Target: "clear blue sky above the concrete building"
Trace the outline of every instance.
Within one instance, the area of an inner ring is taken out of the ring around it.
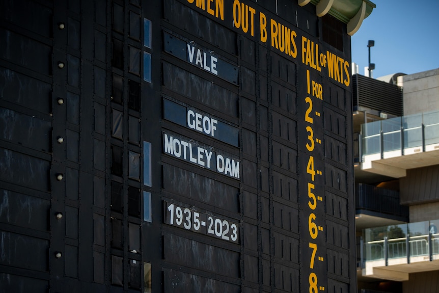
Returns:
[[[351,38],[352,62],[364,74],[368,40],[373,77],[439,68],[439,0],[371,0],[376,8]]]

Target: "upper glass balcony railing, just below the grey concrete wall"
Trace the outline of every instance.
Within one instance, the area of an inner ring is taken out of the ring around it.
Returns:
[[[439,111],[362,125],[363,162],[366,155],[380,158],[406,155],[433,150],[436,144],[439,144]]]

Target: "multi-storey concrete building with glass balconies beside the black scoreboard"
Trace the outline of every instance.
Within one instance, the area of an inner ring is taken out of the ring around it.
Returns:
[[[436,292],[439,69],[389,81],[353,77],[359,289]]]

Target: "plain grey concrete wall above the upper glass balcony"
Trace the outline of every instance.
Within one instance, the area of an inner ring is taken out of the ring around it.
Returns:
[[[403,87],[404,116],[439,110],[439,68],[398,76]]]

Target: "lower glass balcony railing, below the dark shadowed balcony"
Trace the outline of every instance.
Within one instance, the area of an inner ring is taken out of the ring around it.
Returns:
[[[364,229],[362,263],[422,256],[432,260],[439,254],[439,220]]]

